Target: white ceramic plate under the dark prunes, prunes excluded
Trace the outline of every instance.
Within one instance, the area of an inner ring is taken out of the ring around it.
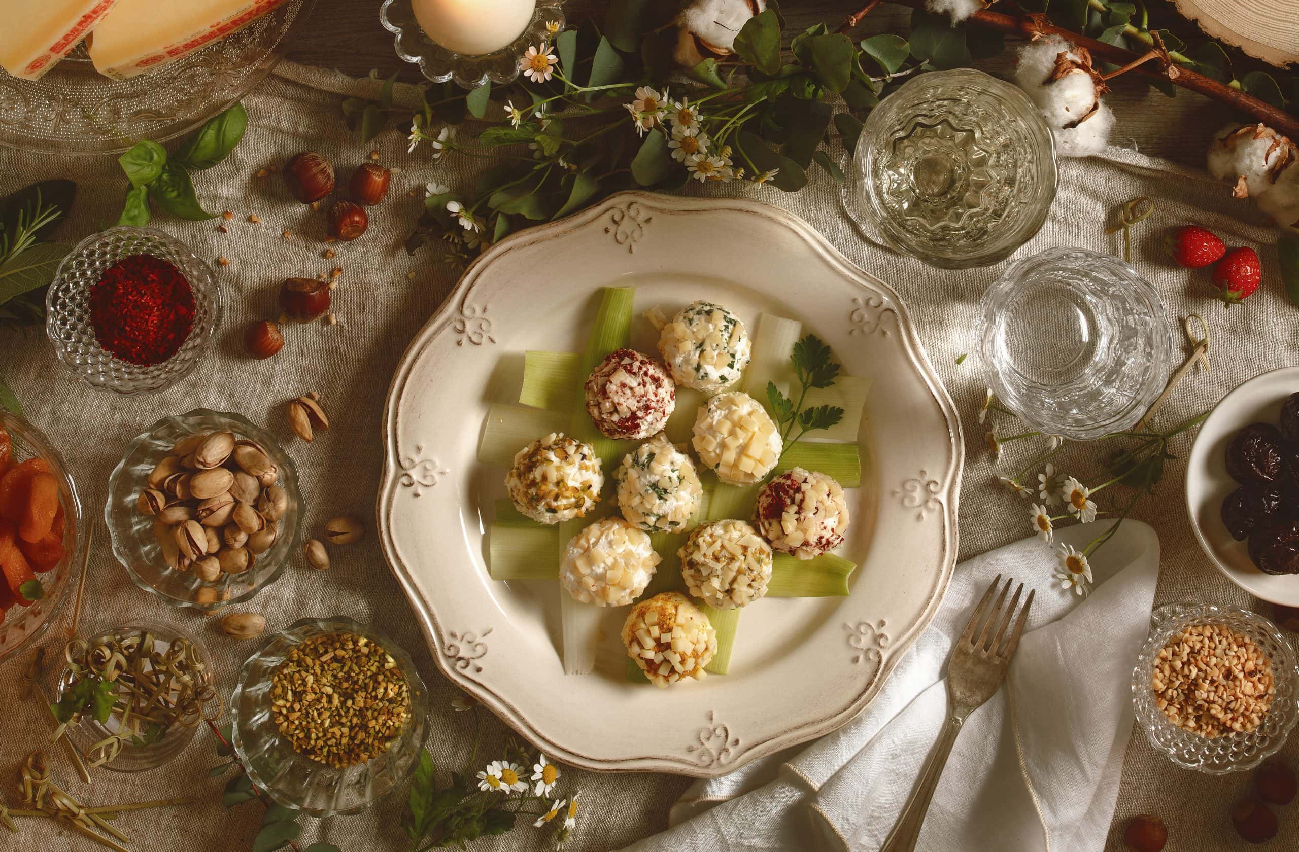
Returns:
[[[1231,538],[1221,513],[1222,499],[1239,487],[1226,473],[1226,445],[1250,423],[1276,425],[1281,403],[1295,391],[1299,391],[1299,366],[1255,375],[1213,408],[1186,460],[1186,510],[1209,561],[1255,597],[1286,607],[1299,607],[1299,577],[1264,574],[1255,568],[1246,543]]]

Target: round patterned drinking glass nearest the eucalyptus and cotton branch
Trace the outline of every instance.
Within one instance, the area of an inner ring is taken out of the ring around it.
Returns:
[[[930,266],[989,266],[1026,243],[1055,199],[1055,144],[1033,101],[973,69],[912,78],[866,118],[846,205]]]

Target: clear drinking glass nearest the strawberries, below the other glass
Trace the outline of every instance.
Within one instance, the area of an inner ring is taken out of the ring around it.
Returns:
[[[1111,255],[1052,248],[1011,264],[979,304],[987,386],[1048,435],[1091,440],[1134,426],[1164,390],[1164,303]]]

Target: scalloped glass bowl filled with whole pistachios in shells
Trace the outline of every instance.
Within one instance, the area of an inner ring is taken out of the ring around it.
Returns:
[[[300,544],[292,458],[242,414],[164,417],[126,448],[104,522],[136,586],[213,612],[275,582]]]

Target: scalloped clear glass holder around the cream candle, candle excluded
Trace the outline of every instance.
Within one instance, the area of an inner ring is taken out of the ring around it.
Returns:
[[[491,4],[481,5],[485,6],[485,19],[490,18],[494,12],[487,6]],[[562,30],[564,22],[560,0],[538,0],[531,19],[518,36],[490,53],[474,55],[452,49],[457,45],[438,44],[420,26],[412,0],[383,0],[379,6],[379,23],[392,34],[392,45],[403,61],[418,65],[420,71],[434,83],[455,81],[462,88],[478,88],[487,81],[511,83],[518,79],[518,60],[527,47],[540,45],[543,42],[553,44],[551,27]],[[473,42],[474,39],[465,39],[466,45]]]

